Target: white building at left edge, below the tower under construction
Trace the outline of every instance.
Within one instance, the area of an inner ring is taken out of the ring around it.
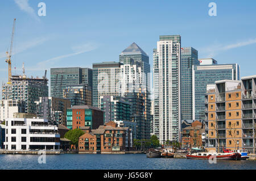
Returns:
[[[15,112],[24,112],[23,106],[19,100],[0,100],[0,120],[13,118]]]

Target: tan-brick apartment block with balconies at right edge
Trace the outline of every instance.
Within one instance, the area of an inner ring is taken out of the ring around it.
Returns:
[[[256,75],[241,81],[222,80],[207,86],[205,146],[208,150],[255,151]]]

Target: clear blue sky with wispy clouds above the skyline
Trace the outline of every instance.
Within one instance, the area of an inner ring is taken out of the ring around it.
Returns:
[[[38,3],[46,16],[38,16]],[[210,2],[217,16],[209,16]],[[84,1],[0,2],[0,81],[7,82],[5,52],[16,18],[13,74],[42,77],[50,68],[92,67],[118,61],[135,42],[150,57],[159,35],[181,35],[182,47],[218,64],[238,63],[241,76],[256,74],[256,1]],[[16,69],[14,69],[16,68]]]

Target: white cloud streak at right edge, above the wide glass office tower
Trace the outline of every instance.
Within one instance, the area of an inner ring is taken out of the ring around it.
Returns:
[[[204,55],[207,54],[207,57],[214,57],[222,51],[244,47],[246,45],[251,45],[255,43],[256,43],[256,39],[250,39],[247,41],[241,41],[241,42],[230,44],[230,45],[215,44],[215,45],[210,45],[207,48],[202,48],[199,50],[199,52]]]

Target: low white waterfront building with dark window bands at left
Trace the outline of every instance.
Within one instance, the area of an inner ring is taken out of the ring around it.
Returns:
[[[60,134],[47,119],[6,119],[7,150],[59,150]]]

